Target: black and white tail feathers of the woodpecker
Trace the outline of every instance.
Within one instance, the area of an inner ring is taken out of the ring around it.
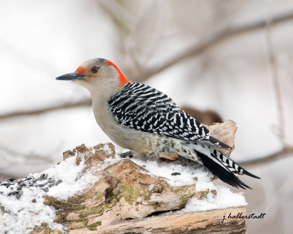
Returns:
[[[210,155],[203,154],[202,152],[197,150],[195,150],[195,153],[202,161],[202,164],[223,182],[236,188],[241,187],[243,189],[252,189],[251,187],[243,183],[238,178],[238,176],[236,176],[236,174],[244,174],[251,176],[253,178],[260,179],[258,176],[255,176],[250,172],[246,171],[244,168],[239,166],[234,160],[232,160],[228,155],[224,154],[218,149],[209,146],[208,148],[211,151]]]

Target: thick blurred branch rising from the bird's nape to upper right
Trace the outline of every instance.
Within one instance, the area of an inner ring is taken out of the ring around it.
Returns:
[[[271,20],[271,23],[278,24],[278,23],[283,23],[287,20],[292,20],[292,19],[293,19],[293,12],[289,12],[289,13],[284,13],[284,14],[280,14],[278,16],[273,17]],[[146,69],[143,73],[139,74],[139,76],[136,76],[132,80],[135,80],[136,82],[142,82],[143,80],[146,80],[152,75],[160,73],[161,71],[173,66],[174,64],[184,59],[202,54],[206,49],[224,41],[225,39],[229,37],[251,32],[253,30],[262,29],[265,27],[265,25],[266,25],[266,19],[261,19],[261,20],[257,20],[252,23],[243,24],[237,27],[228,27],[225,30],[218,32],[213,37],[203,40],[202,43],[195,45],[193,47],[190,47],[180,54],[176,54],[168,61],[161,63],[158,66],[154,66],[152,68]]]

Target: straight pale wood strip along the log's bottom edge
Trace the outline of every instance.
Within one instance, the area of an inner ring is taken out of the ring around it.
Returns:
[[[242,213],[246,215],[246,207],[233,207],[229,209],[218,209],[184,214],[172,214],[167,216],[151,216],[147,218],[136,218],[110,223],[106,227],[99,226],[100,223],[93,223],[86,228],[69,230],[71,234],[87,233],[114,233],[114,234],[246,234],[245,219],[229,219],[222,223],[223,214],[237,216]],[[90,230],[92,229],[92,230]],[[43,224],[35,229],[32,234],[48,233],[60,234],[58,230],[50,232],[49,227]]]

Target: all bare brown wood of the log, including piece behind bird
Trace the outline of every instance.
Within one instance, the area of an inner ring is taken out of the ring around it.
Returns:
[[[208,126],[214,137],[234,147],[236,124]],[[105,148],[109,150],[105,150]],[[230,152],[227,152],[229,154]],[[83,145],[64,152],[64,160],[76,157],[84,163],[83,173],[90,171],[97,180],[81,193],[68,199],[45,195],[44,204],[53,206],[55,222],[67,227],[67,233],[246,233],[245,219],[221,222],[224,214],[246,214],[246,207],[233,207],[202,212],[157,215],[180,210],[188,199],[204,198],[209,190],[196,190],[195,184],[171,186],[165,178],[151,175],[129,159],[114,159],[111,143],[93,148]],[[217,195],[216,190],[211,191]],[[1,219],[1,214],[0,214]],[[42,223],[31,233],[57,234]]]

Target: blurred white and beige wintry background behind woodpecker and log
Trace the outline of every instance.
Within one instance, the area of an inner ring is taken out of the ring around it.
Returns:
[[[262,178],[243,177],[248,214],[266,213],[248,220],[249,233],[292,232],[293,1],[11,0],[0,9],[0,180],[110,142],[88,91],[55,80],[100,57],[181,107],[235,121],[231,156]]]

